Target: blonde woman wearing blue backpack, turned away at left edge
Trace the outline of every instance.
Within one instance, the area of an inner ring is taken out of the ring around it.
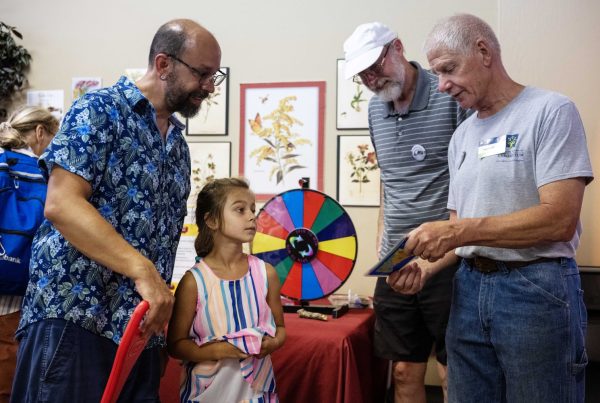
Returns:
[[[37,170],[37,159],[52,141],[58,131],[58,126],[58,120],[48,110],[37,106],[21,107],[9,117],[8,121],[0,123],[0,179],[2,179],[0,181],[0,187],[2,188],[0,215],[6,215],[4,217],[0,216],[0,227],[6,226],[8,230],[14,229],[11,225],[6,225],[6,223],[15,222],[16,216],[8,205],[14,207],[15,200],[19,200],[17,203],[20,204],[23,195],[28,194],[29,187],[37,186],[36,192],[41,192],[45,197],[45,180],[41,175],[41,171],[35,172]],[[9,156],[10,151],[18,153],[18,155],[11,154]],[[15,156],[18,158],[13,158]],[[28,168],[24,176],[14,176],[14,172],[17,170],[25,171],[21,167]],[[34,184],[36,178],[39,178],[39,180],[37,184]],[[17,194],[14,187],[17,186],[19,180],[21,183]],[[33,197],[36,196],[32,195]],[[28,212],[30,206],[24,204],[23,206],[25,208],[22,211]],[[37,215],[28,214],[26,219],[27,229],[35,231],[43,218],[43,204],[38,199],[31,206],[35,209],[34,212]],[[19,224],[21,223],[20,220],[17,221]],[[4,239],[2,239],[3,235]],[[2,374],[0,376],[0,403],[8,402],[10,398],[17,355],[17,342],[14,333],[19,323],[21,302],[27,278],[26,273],[24,273],[17,280],[15,277],[11,277],[11,271],[14,272],[16,268],[21,271],[26,270],[29,261],[29,250],[31,249],[31,239],[27,237],[23,243],[26,252],[19,254],[19,256],[12,256],[14,253],[11,252],[14,249],[8,247],[8,243],[11,242],[9,239],[11,235],[14,235],[14,231],[7,231],[6,228],[0,232],[0,374]],[[6,245],[6,248],[4,245]],[[15,263],[17,260],[19,265]]]

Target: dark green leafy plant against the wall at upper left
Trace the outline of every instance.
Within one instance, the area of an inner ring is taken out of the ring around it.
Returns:
[[[27,85],[31,64],[31,55],[13,36],[23,39],[15,27],[0,21],[0,121],[6,120],[13,95]]]

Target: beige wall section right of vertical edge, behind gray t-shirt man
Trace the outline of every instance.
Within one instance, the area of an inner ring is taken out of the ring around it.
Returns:
[[[592,166],[600,175],[600,2],[597,0],[500,0],[498,26],[504,62],[521,83],[561,92],[577,105]],[[586,189],[577,254],[580,266],[600,266],[598,179]]]

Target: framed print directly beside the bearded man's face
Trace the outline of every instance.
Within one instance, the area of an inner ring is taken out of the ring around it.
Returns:
[[[227,136],[229,126],[229,76],[231,69],[221,67],[227,74],[225,80],[215,87],[215,92],[202,102],[200,111],[187,119],[188,136]]]

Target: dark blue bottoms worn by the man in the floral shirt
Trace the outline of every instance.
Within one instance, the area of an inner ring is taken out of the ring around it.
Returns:
[[[11,402],[99,402],[117,345],[72,322],[46,319],[18,334]],[[144,350],[119,402],[159,402],[160,347]]]

